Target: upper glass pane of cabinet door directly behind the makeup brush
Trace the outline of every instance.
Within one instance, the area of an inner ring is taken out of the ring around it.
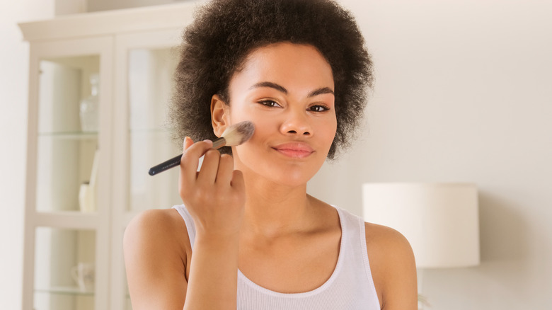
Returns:
[[[171,47],[134,48],[128,54],[129,211],[180,203],[178,168],[149,176],[152,166],[182,153],[167,125],[178,54]]]

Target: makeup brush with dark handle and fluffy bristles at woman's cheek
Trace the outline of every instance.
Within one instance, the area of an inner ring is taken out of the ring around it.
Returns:
[[[250,139],[251,136],[253,136],[254,131],[255,126],[253,125],[253,122],[249,122],[248,120],[238,122],[237,124],[226,128],[221,137],[213,141],[212,148],[220,149],[221,147],[235,147],[236,145],[240,145]],[[159,163],[157,166],[151,167],[149,169],[149,175],[154,176],[157,173],[179,166],[180,158],[182,158],[182,154],[175,156],[168,161],[163,161],[163,163]]]

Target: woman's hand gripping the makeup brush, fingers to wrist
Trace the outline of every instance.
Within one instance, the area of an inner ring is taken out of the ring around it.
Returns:
[[[178,182],[180,198],[194,219],[197,234],[228,236],[237,234],[246,202],[241,171],[234,159],[211,149],[209,140],[194,143],[184,139]],[[200,157],[205,154],[197,172]]]

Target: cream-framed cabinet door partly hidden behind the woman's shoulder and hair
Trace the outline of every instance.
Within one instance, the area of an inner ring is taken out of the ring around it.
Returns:
[[[113,174],[113,260],[121,266],[111,276],[121,294],[113,309],[132,309],[128,294],[122,236],[128,222],[146,209],[166,209],[182,203],[178,168],[149,176],[149,168],[182,153],[167,124],[178,64],[182,29],[118,35],[115,39],[115,170]],[[122,226],[121,226],[122,225]]]

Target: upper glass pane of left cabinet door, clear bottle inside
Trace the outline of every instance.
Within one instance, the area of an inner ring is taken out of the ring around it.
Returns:
[[[38,82],[38,212],[96,212],[98,55],[42,59]]]

